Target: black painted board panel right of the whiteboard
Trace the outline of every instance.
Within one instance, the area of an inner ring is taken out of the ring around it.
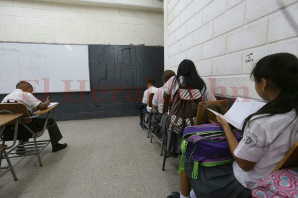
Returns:
[[[163,47],[89,45],[91,90],[146,89],[149,78],[162,86]]]

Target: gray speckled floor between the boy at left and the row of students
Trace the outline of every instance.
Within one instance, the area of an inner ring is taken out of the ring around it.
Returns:
[[[49,145],[37,156],[11,159],[10,172],[0,178],[0,198],[166,198],[179,190],[178,158],[163,156],[147,138],[139,117],[58,122],[67,143],[53,153]],[[48,138],[48,133],[43,139]]]

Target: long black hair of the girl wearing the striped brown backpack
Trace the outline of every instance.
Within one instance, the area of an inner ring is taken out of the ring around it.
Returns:
[[[184,59],[180,62],[177,70],[177,75],[174,78],[174,81],[180,78],[180,76],[184,77],[181,87],[187,86],[192,89],[198,89],[200,91],[204,90],[204,93],[202,93],[202,95],[205,94],[206,84],[203,81],[203,79],[199,76],[193,61]],[[172,86],[174,86],[174,83]]]

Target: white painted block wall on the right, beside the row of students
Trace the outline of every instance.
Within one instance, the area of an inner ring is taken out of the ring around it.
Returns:
[[[164,0],[165,69],[195,62],[216,95],[259,99],[249,74],[263,56],[298,56],[298,0]]]

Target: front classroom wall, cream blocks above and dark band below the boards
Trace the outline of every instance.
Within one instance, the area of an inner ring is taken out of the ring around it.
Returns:
[[[163,13],[0,0],[0,42],[163,46]],[[162,73],[162,64],[154,66]],[[133,90],[96,89],[35,96],[42,101],[49,96],[51,101],[60,102],[55,108],[60,121],[139,115],[135,106],[142,101],[144,91],[145,87],[141,86]],[[4,97],[0,95],[0,100]]]

